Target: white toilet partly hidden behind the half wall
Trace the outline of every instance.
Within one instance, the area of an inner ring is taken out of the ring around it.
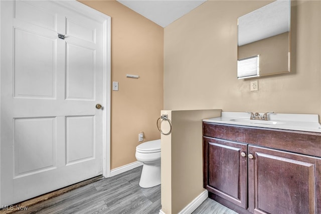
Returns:
[[[138,145],[135,156],[143,163],[139,186],[149,188],[161,184],[161,139]]]

